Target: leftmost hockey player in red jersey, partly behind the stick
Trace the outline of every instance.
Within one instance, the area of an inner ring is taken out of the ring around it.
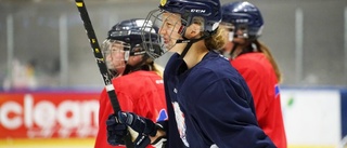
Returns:
[[[114,76],[112,82],[120,108],[157,122],[167,119],[164,84],[159,67],[153,63],[153,58],[142,48],[140,29],[143,22],[144,19],[133,18],[113,26],[108,31],[107,39],[102,44],[102,51],[107,68]],[[155,27],[150,26],[149,28],[153,28],[152,31],[157,31]],[[153,40],[157,40],[157,38]],[[159,55],[163,53],[160,49],[155,49],[152,52]],[[117,136],[119,133],[115,133],[112,129],[106,130],[107,119],[107,124],[114,125],[116,129],[124,129],[125,133],[121,134],[128,133],[124,124],[117,124],[115,118],[108,117],[112,113],[108,95],[106,90],[103,90],[100,96],[99,133],[94,148],[115,148],[107,144],[107,135]],[[113,145],[115,144],[125,145],[125,142],[119,139],[113,142]]]

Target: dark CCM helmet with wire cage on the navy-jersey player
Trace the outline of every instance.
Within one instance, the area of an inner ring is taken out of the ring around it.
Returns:
[[[177,23],[170,23],[170,25],[174,26],[170,28],[179,28],[178,32],[183,37],[183,39],[176,39],[175,43],[172,42],[171,44],[162,42],[160,45],[163,51],[165,52],[169,51],[176,43],[192,44],[196,41],[211,37],[217,32],[217,28],[221,21],[219,0],[160,0],[158,9],[153,10],[147,14],[145,24],[154,23],[159,24],[163,27],[163,24],[166,24],[165,22],[170,19],[163,17],[163,14],[165,14],[166,12],[180,14],[180,21],[178,21]],[[172,16],[175,17],[175,15]],[[201,26],[203,26],[203,36],[200,39],[187,39],[184,37],[187,27],[197,22],[202,23]],[[169,35],[172,33],[172,31],[174,30],[171,30]],[[152,44],[150,43],[147,49],[153,49],[151,45]],[[188,51],[189,46],[190,45],[188,45],[184,51]],[[183,57],[185,53],[187,52],[183,52],[181,56]]]

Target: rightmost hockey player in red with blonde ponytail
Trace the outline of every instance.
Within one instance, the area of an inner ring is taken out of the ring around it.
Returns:
[[[224,54],[246,80],[252,92],[259,126],[278,148],[286,148],[279,81],[281,72],[269,49],[258,41],[264,27],[259,9],[249,2],[222,5],[226,28]]]

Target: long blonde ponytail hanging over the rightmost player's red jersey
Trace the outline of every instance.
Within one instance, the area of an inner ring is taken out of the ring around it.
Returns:
[[[281,83],[282,82],[282,73],[281,73],[280,68],[279,68],[278,64],[275,63],[269,48],[266,46],[264,43],[259,42],[258,40],[256,40],[255,43],[257,44],[259,52],[264,53],[265,56],[270,60],[272,68],[275,72],[275,76],[278,78],[278,81],[279,81],[279,83]]]

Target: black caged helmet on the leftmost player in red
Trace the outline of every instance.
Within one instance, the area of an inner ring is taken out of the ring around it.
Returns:
[[[143,65],[145,67],[146,63],[153,62],[153,58],[151,58],[152,56],[150,55],[163,54],[163,51],[160,50],[158,43],[156,43],[156,45],[154,45],[152,50],[145,50],[143,48],[147,44],[146,42],[144,42],[145,40],[149,40],[151,42],[159,41],[159,38],[157,38],[157,36],[154,36],[157,33],[158,28],[153,25],[147,26],[150,28],[149,30],[151,31],[146,32],[147,36],[144,36],[143,40],[143,30],[141,30],[141,28],[143,27],[143,23],[144,19],[142,18],[126,19],[114,25],[108,31],[107,38],[103,42],[101,48],[103,51],[104,58],[106,60],[106,66],[112,76],[117,76],[119,73],[127,75],[129,71],[134,71],[141,68],[144,69],[142,67]],[[151,33],[153,35],[150,36]],[[114,52],[117,52],[118,54],[111,54]],[[120,56],[119,53],[124,56]],[[114,57],[108,55],[113,55]],[[143,55],[142,62],[136,65],[130,65],[128,63],[129,56],[134,55]],[[111,60],[108,60],[107,58],[110,58]],[[124,68],[125,70],[123,70]]]

